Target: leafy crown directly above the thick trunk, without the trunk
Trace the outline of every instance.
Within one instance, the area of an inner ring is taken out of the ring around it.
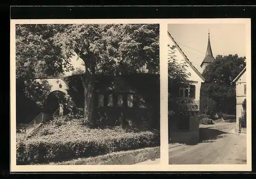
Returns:
[[[67,24],[57,36],[67,59],[75,52],[88,69],[94,56],[96,73],[136,72],[144,64],[159,69],[158,24]]]

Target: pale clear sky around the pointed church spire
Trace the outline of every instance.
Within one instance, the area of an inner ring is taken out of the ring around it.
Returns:
[[[245,24],[168,24],[168,32],[200,72],[207,49],[208,31],[214,57],[229,54],[245,57]]]

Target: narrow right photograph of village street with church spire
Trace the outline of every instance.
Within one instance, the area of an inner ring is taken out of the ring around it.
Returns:
[[[246,25],[168,24],[168,161],[246,164]]]

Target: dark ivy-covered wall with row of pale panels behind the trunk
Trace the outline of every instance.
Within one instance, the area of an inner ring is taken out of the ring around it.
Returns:
[[[82,78],[74,75],[68,80],[68,93],[79,108],[83,108]],[[94,96],[97,126],[160,127],[159,74],[96,75]]]

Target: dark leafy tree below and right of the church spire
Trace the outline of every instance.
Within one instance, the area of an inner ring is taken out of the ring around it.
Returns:
[[[206,66],[202,73],[206,79],[201,88],[200,107],[202,113],[210,113],[210,111],[211,113],[235,113],[236,85],[232,83],[232,80],[245,67],[245,59],[238,55],[218,55],[214,63]],[[209,100],[215,103],[214,111],[210,109]]]

